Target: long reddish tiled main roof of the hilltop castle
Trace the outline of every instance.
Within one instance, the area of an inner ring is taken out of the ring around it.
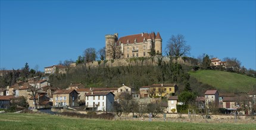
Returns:
[[[119,42],[123,43],[123,44],[127,44],[127,40],[130,41],[129,44],[134,44],[134,40],[137,40],[136,43],[143,43],[143,39],[145,38],[155,38],[155,32],[152,33],[142,33],[142,34],[134,34],[134,35],[127,35],[125,37],[120,37],[117,41],[117,44],[119,44]],[[145,41],[146,42],[146,41]]]

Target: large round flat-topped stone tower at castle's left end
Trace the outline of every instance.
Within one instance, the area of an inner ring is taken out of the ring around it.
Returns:
[[[105,57],[106,57],[106,60],[111,60],[112,57],[110,56],[110,49],[111,49],[111,45],[114,45],[115,42],[117,41],[118,39],[118,34],[115,33],[114,35],[112,34],[107,34],[105,35]]]

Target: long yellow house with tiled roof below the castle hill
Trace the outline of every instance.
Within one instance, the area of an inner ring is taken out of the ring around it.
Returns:
[[[171,96],[177,90],[176,84],[153,84],[151,86],[142,87],[141,96]],[[140,89],[141,90],[141,89]],[[146,95],[148,92],[148,95]],[[146,97],[145,97],[146,98]]]

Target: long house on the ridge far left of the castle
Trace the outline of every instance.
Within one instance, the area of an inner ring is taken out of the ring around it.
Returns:
[[[54,65],[45,67],[45,74],[66,73],[66,66]]]

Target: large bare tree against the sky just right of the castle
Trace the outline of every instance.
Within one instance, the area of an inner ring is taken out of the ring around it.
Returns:
[[[166,51],[169,56],[181,57],[189,55],[191,47],[186,45],[185,37],[182,34],[171,35],[167,41]]]

